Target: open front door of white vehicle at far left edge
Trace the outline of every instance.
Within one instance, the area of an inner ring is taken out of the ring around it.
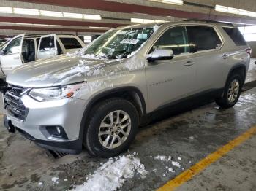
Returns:
[[[24,36],[25,34],[20,34],[12,38],[4,47],[4,55],[0,55],[1,69],[5,75],[10,74],[15,67],[23,64],[21,53]]]

